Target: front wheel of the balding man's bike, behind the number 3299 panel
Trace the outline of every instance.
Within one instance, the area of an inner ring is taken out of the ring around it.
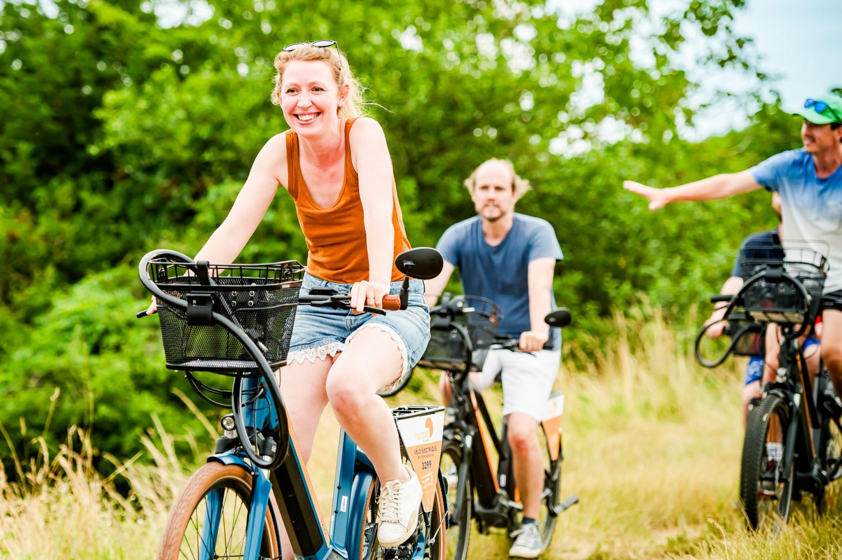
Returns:
[[[447,531],[448,560],[465,560],[468,554],[468,541],[471,538],[471,516],[473,511],[473,486],[471,469],[466,470],[464,481],[464,496],[461,499],[462,509],[458,517],[454,517],[454,509],[458,501],[459,466],[462,463],[462,446],[457,440],[444,440],[441,447],[441,462],[439,468],[447,481],[447,505],[450,517]]]

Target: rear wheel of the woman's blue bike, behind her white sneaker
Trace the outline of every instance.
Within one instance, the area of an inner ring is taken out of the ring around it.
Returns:
[[[446,538],[445,536],[445,496],[442,493],[441,481],[436,479],[435,499],[433,502],[433,510],[430,517],[429,525],[425,520],[425,515],[421,513],[421,507],[418,507],[418,530],[415,536],[410,537],[406,542],[396,549],[386,549],[380,546],[377,541],[377,501],[380,499],[380,480],[374,478],[371,481],[371,486],[368,491],[368,497],[365,500],[365,514],[363,515],[362,526],[360,527],[360,560],[390,560],[395,557],[412,557],[418,544],[418,536],[424,535],[426,541],[427,553],[424,554],[424,559],[430,560],[445,560]]]

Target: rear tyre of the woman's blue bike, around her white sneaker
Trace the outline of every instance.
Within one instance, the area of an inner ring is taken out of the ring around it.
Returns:
[[[441,488],[441,479],[436,477],[435,483],[435,499],[433,502],[432,515],[430,516],[430,535],[433,537],[433,542],[428,543],[428,554],[424,555],[424,560],[445,560],[447,540],[439,538],[439,535],[445,533],[445,501],[444,493]],[[387,557],[391,558],[394,555],[386,555],[380,547],[380,542],[377,540],[377,501],[380,498],[380,480],[373,478],[365,499],[365,512],[363,514],[362,526],[360,527],[360,560],[385,560]],[[423,527],[424,531],[428,530],[424,515],[420,514],[420,506],[418,513],[418,526]],[[412,542],[410,538],[407,542]],[[401,545],[404,547],[406,543]],[[390,552],[393,549],[390,549]]]

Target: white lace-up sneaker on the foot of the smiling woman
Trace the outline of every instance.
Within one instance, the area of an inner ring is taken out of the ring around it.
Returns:
[[[380,490],[377,504],[377,540],[381,547],[393,548],[406,541],[418,526],[418,506],[421,505],[421,483],[415,472],[407,467],[409,480],[402,483],[390,480]]]

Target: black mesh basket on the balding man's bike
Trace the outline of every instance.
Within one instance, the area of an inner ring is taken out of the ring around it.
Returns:
[[[499,307],[491,300],[476,296],[457,296],[448,305],[461,309],[453,317],[453,322],[464,328],[471,339],[470,371],[482,371],[488,346],[494,343],[494,334],[503,318]],[[435,323],[430,328],[429,344],[418,365],[433,370],[466,371],[468,349],[459,329]]]

